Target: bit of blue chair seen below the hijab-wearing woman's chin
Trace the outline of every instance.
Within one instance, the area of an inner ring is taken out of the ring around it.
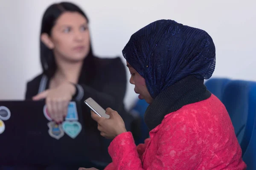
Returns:
[[[136,144],[144,143],[144,140],[148,138],[149,136],[149,130],[147,125],[144,122],[144,114],[146,109],[148,108],[148,103],[143,100],[137,100],[134,107],[131,109],[130,113],[135,115],[138,115],[140,117],[140,137],[138,139],[135,139]]]

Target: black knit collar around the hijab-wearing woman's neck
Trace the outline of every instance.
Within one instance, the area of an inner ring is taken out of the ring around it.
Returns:
[[[161,91],[161,93],[148,106],[144,120],[149,130],[160,125],[164,116],[185,105],[208,99],[211,93],[204,85],[204,80],[195,76],[186,77],[174,85]]]

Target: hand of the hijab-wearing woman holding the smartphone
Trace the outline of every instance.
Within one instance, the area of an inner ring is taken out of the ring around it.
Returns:
[[[107,108],[106,114],[110,116],[109,119],[100,117],[91,111],[91,117],[93,120],[98,122],[98,130],[101,132],[101,136],[113,139],[117,135],[127,132],[122,117],[116,111],[113,111],[111,108]]]

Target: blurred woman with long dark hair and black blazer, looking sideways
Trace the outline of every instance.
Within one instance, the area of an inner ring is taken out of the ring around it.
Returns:
[[[64,120],[70,100],[93,98],[102,108],[114,108],[127,121],[133,119],[124,108],[125,66],[119,57],[102,59],[93,55],[89,20],[73,3],[55,3],[47,8],[41,23],[40,58],[43,73],[27,83],[26,99],[45,99],[50,117]],[[82,105],[84,128],[90,137],[91,159],[110,162],[109,140],[100,136],[90,109]]]

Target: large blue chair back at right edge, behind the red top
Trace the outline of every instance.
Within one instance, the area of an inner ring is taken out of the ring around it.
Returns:
[[[222,94],[222,102],[230,115],[244,154],[252,135],[256,114],[256,82],[230,81]]]

